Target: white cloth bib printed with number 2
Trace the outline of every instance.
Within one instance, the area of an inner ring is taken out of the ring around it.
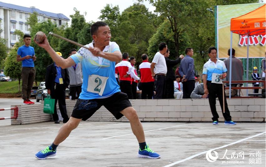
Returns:
[[[98,75],[90,75],[87,91],[98,93],[100,96],[103,95],[105,85],[108,77],[98,76]]]

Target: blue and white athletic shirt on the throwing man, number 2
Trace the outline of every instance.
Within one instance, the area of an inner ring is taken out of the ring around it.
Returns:
[[[85,45],[93,48],[93,42]],[[110,42],[103,52],[113,53],[120,51],[118,44]],[[70,58],[76,64],[82,64],[83,84],[80,99],[89,100],[107,98],[119,92],[119,85],[115,79],[115,62],[94,56],[89,50],[80,48]]]

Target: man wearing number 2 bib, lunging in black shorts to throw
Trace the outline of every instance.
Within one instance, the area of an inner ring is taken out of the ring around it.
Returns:
[[[82,64],[82,92],[67,123],[60,129],[54,142],[35,154],[37,159],[46,159],[56,155],[57,146],[63,142],[80,123],[90,118],[101,106],[105,106],[116,119],[125,116],[131,125],[140,148],[138,157],[157,159],[161,156],[152,151],[145,142],[145,135],[136,110],[132,107],[125,93],[119,90],[115,79],[115,62],[122,58],[119,46],[110,42],[109,26],[104,22],[96,22],[90,28],[92,43],[86,45],[90,49],[80,48],[79,51],[62,59],[49,45],[45,36],[43,43],[38,44],[52,57],[61,68],[68,68],[77,63]]]

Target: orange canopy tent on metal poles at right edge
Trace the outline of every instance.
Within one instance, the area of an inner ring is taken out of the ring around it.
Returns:
[[[265,23],[265,4],[247,14],[239,16],[237,18],[231,18],[231,45],[230,45],[230,71],[229,71],[229,98],[231,98],[231,81],[232,81],[232,39],[233,33],[239,35],[265,35],[266,23]],[[246,78],[248,78],[248,46],[247,45],[247,70]],[[248,90],[247,90],[248,96]]]

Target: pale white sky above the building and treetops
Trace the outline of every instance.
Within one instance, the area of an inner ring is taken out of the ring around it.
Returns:
[[[100,10],[103,9],[106,4],[112,4],[113,6],[118,5],[120,12],[122,12],[125,8],[131,6],[134,2],[137,2],[136,0],[79,0],[79,1],[62,1],[62,0],[44,0],[44,1],[38,1],[38,0],[0,0],[4,3],[11,3],[19,6],[24,7],[31,7],[35,6],[35,8],[38,8],[40,10],[46,11],[46,12],[52,12],[52,13],[63,13],[68,18],[69,15],[74,14],[73,8],[77,8],[81,14],[84,14],[84,12],[87,13],[85,16],[86,21],[98,21],[98,17],[101,15]],[[79,2],[79,3],[75,3]],[[93,3],[92,3],[93,2]],[[150,11],[155,10],[155,7],[150,5],[148,2],[144,2],[147,8],[149,8]]]

